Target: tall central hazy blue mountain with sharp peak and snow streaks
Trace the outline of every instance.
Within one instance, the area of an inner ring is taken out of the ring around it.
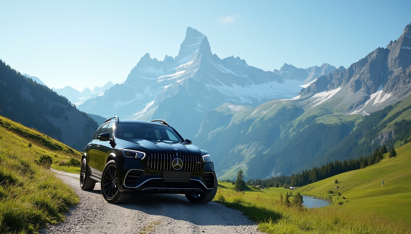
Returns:
[[[222,103],[256,106],[292,98],[299,85],[304,81],[283,79],[239,57],[220,59],[212,54],[207,37],[188,27],[176,57],[158,61],[145,54],[124,83],[86,100],[79,109],[101,116],[160,118],[193,137],[204,114]]]

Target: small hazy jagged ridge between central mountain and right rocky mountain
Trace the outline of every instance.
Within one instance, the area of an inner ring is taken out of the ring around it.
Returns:
[[[330,64],[323,64],[320,67],[313,66],[309,68],[296,68],[293,65],[284,64],[280,70],[274,69],[274,73],[281,75],[283,79],[291,79],[291,80],[302,80],[305,84],[309,84],[316,78],[321,75],[327,75],[331,73],[333,70],[336,70],[335,66]]]

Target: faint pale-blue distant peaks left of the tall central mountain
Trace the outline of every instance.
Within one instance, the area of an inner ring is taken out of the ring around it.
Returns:
[[[69,101],[78,106],[90,98],[95,98],[97,96],[103,95],[104,91],[110,89],[113,86],[114,84],[111,81],[109,81],[101,87],[97,86],[92,90],[89,88],[85,88],[81,92],[70,86],[65,86],[62,89],[52,88],[51,90],[55,91],[56,93],[62,96],[65,96]]]

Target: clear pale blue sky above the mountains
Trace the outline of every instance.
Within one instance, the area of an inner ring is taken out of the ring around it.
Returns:
[[[220,58],[263,70],[348,67],[396,40],[411,1],[4,1],[0,59],[49,87],[123,82],[147,52],[175,57],[191,26]]]

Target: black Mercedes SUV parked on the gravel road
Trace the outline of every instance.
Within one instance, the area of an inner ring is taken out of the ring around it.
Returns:
[[[217,192],[210,154],[183,139],[164,120],[109,118],[83,152],[80,186],[101,183],[104,199],[125,202],[130,193],[185,194],[208,203]]]

